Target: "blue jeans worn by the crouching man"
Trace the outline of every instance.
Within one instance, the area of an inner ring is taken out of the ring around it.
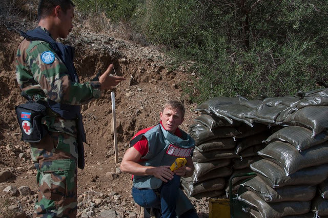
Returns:
[[[153,189],[137,189],[132,188],[132,196],[134,201],[144,208],[158,208],[161,209],[162,218],[176,218],[176,201],[178,197],[178,188],[180,187],[180,176],[174,175],[171,181],[163,183],[162,186],[156,190]],[[190,213],[187,211],[186,213]],[[185,213],[182,214],[185,215]],[[196,215],[196,216],[194,216]],[[196,211],[192,216],[185,216],[188,218],[198,217]]]

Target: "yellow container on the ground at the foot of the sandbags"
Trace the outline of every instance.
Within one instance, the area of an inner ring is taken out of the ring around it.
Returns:
[[[209,218],[231,218],[229,199],[210,199]]]

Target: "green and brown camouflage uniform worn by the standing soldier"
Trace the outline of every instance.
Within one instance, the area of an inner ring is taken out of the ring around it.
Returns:
[[[50,34],[46,29],[45,32]],[[51,51],[55,60],[46,64],[41,55]],[[43,41],[24,41],[16,56],[16,79],[20,89],[34,100],[82,105],[99,98],[100,83],[74,83],[65,64]],[[77,128],[75,120],[64,120],[50,108],[42,123],[47,134],[39,143],[30,143],[37,168],[38,201],[33,217],[76,217],[77,209]]]

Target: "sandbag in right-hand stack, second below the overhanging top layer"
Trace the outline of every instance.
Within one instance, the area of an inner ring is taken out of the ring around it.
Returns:
[[[276,141],[258,152],[263,158],[275,162],[290,175],[300,169],[328,163],[328,143],[313,146],[301,153],[291,144]]]

